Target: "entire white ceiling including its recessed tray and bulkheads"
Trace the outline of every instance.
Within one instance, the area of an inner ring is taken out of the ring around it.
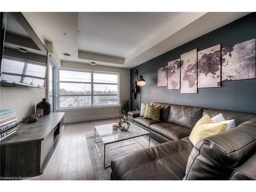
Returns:
[[[247,12],[25,12],[61,60],[133,68]],[[67,35],[63,35],[63,32]],[[39,34],[38,34],[39,33]],[[71,56],[65,57],[64,53]]]

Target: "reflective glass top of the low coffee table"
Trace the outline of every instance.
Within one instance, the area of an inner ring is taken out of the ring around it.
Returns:
[[[133,123],[130,123],[128,131],[121,131],[118,128],[116,130],[113,130],[112,124],[113,123],[95,126],[95,130],[97,131],[99,137],[104,144],[114,143],[117,141],[132,139],[135,137],[150,134],[150,132],[142,129],[141,127]]]

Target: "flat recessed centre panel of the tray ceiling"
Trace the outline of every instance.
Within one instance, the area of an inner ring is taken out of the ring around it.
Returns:
[[[124,58],[179,14],[181,13],[78,13],[78,49]]]

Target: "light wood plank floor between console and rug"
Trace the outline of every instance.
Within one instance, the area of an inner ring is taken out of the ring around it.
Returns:
[[[85,130],[112,119],[65,124],[58,144],[38,180],[95,180]]]

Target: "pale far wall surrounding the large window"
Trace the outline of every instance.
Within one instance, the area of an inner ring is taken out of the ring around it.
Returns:
[[[81,69],[81,70],[94,70],[103,72],[119,73],[119,100],[122,98],[130,98],[130,69],[105,67],[105,66],[91,66],[86,63],[61,61],[61,68],[68,69]],[[95,119],[105,119],[113,117],[115,111],[118,110],[117,106],[103,106],[83,108],[76,110],[58,110],[65,111],[64,122],[78,122]]]

